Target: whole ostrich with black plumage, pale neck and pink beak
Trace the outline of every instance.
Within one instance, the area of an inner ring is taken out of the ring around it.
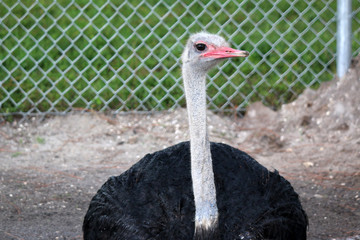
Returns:
[[[91,200],[84,239],[306,239],[307,216],[277,171],[209,142],[206,73],[246,57],[221,36],[192,35],[182,54],[190,142],[152,154],[113,176]]]

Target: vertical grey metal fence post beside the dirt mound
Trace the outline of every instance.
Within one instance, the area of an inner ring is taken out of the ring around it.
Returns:
[[[337,75],[342,77],[351,61],[351,0],[337,1]]]

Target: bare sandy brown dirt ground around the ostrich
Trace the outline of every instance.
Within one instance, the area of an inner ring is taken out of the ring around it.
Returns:
[[[360,239],[360,63],[278,112],[209,112],[212,141],[277,169],[308,214],[308,239]],[[186,110],[69,114],[0,124],[0,239],[82,239],[97,189],[146,153],[188,140]]]

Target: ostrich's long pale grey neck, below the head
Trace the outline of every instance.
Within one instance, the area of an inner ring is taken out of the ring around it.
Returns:
[[[217,226],[216,189],[206,124],[206,73],[184,63],[182,68],[190,127],[191,177],[195,231]]]

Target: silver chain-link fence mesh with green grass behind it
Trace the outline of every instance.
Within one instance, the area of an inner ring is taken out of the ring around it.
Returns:
[[[183,107],[180,55],[203,30],[250,52],[210,72],[215,111],[276,108],[334,77],[335,0],[2,0],[0,118]]]

